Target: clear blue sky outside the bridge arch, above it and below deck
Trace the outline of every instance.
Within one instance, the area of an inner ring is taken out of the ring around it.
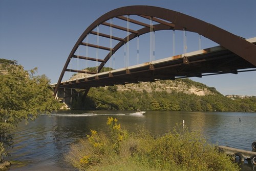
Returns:
[[[0,0],[0,58],[17,60],[26,70],[38,67],[39,75],[56,83],[82,32],[104,13],[130,5],[167,8],[244,38],[256,37],[255,0]],[[256,95],[255,71],[193,80],[216,87],[224,95]]]

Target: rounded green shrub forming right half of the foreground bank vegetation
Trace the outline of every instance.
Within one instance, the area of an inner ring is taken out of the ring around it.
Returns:
[[[217,152],[215,146],[197,132],[186,128],[156,139],[148,152],[151,167],[172,170],[238,170],[226,154]]]

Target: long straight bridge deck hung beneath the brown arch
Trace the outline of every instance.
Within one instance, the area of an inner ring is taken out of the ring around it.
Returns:
[[[256,44],[256,37],[247,39]],[[62,88],[85,89],[90,87],[169,80],[181,77],[202,77],[215,74],[237,74],[240,69],[256,68],[238,55],[222,46],[146,62],[111,72],[83,76],[61,82]],[[52,86],[55,86],[53,84]]]

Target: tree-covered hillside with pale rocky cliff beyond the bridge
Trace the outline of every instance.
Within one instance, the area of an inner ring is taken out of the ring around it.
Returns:
[[[72,108],[256,112],[256,97],[232,100],[214,87],[178,79],[91,88],[86,99],[73,98]]]

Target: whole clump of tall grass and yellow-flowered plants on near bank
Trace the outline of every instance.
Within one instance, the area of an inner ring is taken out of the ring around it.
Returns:
[[[129,133],[109,117],[108,133],[91,130],[71,146],[66,160],[79,170],[239,170],[197,132],[177,126],[155,138],[144,129]]]

